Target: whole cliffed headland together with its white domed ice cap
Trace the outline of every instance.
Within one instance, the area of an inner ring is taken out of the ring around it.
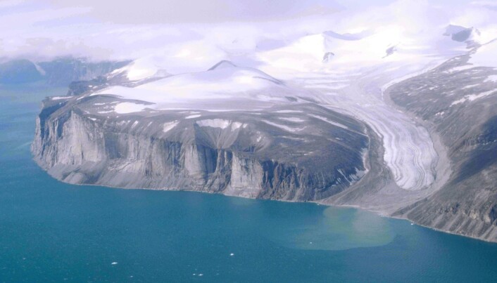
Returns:
[[[69,183],[317,201],[365,176],[370,130],[305,93],[222,61],[47,98],[32,150]]]

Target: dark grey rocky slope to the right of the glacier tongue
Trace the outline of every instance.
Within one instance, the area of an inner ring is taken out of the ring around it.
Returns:
[[[470,54],[389,88],[448,148],[452,174],[434,195],[396,213],[440,230],[497,241],[497,71]]]

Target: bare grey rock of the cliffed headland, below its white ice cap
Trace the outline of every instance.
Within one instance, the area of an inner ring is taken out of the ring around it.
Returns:
[[[45,100],[32,144],[40,166],[68,183],[311,201],[366,171],[363,124],[313,104],[118,114],[96,105],[119,98],[78,98]]]

